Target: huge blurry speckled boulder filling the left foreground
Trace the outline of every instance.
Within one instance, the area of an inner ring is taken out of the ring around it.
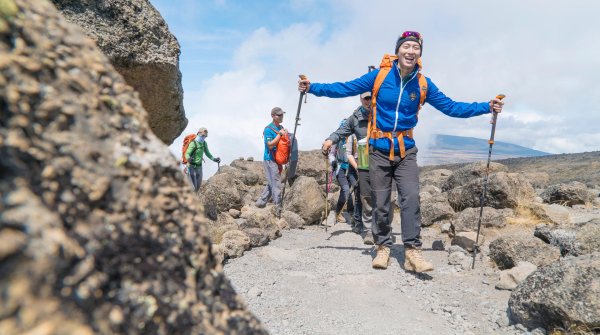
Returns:
[[[0,111],[1,334],[266,333],[136,93],[48,1],[0,1]]]

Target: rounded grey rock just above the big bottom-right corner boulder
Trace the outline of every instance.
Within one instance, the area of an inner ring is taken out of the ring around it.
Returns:
[[[560,250],[534,236],[515,233],[492,241],[489,256],[498,268],[504,270],[520,261],[531,262],[538,267],[554,263],[560,258]]]

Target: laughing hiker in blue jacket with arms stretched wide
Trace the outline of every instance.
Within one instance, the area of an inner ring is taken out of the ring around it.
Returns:
[[[401,206],[404,268],[414,272],[433,270],[433,265],[421,253],[419,169],[417,147],[412,136],[422,102],[429,103],[446,115],[459,118],[502,111],[503,102],[499,99],[465,103],[453,101],[444,95],[429,78],[419,73],[422,48],[421,34],[406,31],[396,41],[397,59],[393,56],[389,58],[391,66],[386,68],[389,71],[387,74],[383,71],[382,62],[380,69],[345,83],[311,83],[308,79],[298,82],[301,92],[330,98],[373,91],[371,117],[375,122],[369,129],[369,177],[375,207],[372,229],[377,246],[373,268],[386,269],[389,265],[392,239],[388,216],[391,185],[395,180]],[[376,84],[379,72],[382,72],[379,78],[382,82],[377,81],[379,84]]]

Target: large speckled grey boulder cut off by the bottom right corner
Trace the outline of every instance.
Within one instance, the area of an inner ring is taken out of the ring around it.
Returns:
[[[531,274],[508,300],[511,319],[527,328],[588,334],[600,328],[600,253],[568,257]]]

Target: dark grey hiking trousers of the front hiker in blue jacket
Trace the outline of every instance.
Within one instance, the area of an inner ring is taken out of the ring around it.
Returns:
[[[376,245],[392,246],[392,181],[396,182],[400,199],[400,220],[402,242],[407,247],[420,247],[421,209],[419,204],[419,168],[417,166],[417,147],[406,151],[402,159],[395,155],[389,160],[389,154],[371,149],[369,154],[369,177],[371,178],[371,196],[373,211],[373,238]]]

